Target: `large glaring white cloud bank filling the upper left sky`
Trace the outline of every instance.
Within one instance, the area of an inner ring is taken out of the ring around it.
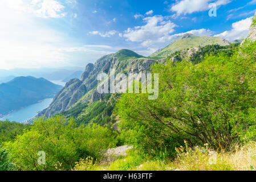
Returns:
[[[67,1],[75,2],[62,2]],[[26,11],[27,5],[23,0],[0,1],[0,69],[82,67],[116,51],[105,45],[75,47],[62,31],[48,27],[34,11]]]

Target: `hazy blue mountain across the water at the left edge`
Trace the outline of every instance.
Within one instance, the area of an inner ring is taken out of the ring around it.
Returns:
[[[0,115],[54,97],[62,86],[44,78],[16,77],[0,84]]]

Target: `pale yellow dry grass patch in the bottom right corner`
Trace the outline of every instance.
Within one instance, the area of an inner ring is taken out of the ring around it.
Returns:
[[[256,143],[236,147],[232,152],[214,152],[207,146],[180,148],[170,169],[181,171],[250,171],[256,168]]]

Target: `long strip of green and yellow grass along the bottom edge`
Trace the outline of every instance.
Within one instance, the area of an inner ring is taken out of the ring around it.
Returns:
[[[128,156],[103,165],[95,165],[91,160],[81,161],[75,170],[111,171],[251,171],[256,170],[256,142],[236,147],[232,152],[214,152],[205,147],[177,148],[177,158],[173,161],[145,159],[135,150],[128,150]]]

